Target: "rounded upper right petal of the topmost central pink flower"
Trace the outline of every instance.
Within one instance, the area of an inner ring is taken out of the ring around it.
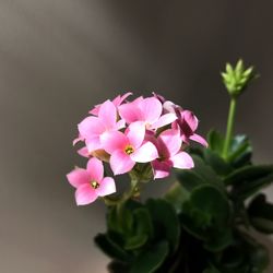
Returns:
[[[139,103],[142,112],[142,120],[153,124],[162,115],[162,104],[155,97],[147,97]]]

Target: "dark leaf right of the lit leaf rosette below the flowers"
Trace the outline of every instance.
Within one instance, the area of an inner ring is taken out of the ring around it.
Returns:
[[[163,199],[149,199],[146,206],[156,227],[157,236],[166,238],[170,244],[170,249],[176,250],[179,245],[180,225],[175,209]]]

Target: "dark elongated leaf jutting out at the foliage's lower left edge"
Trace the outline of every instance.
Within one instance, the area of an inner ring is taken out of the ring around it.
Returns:
[[[116,242],[114,242],[107,235],[98,234],[94,240],[97,247],[99,247],[104,251],[104,253],[109,256],[110,258],[120,261],[131,260],[131,257]]]

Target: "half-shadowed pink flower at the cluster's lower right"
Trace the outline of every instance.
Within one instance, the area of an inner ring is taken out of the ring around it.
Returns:
[[[180,169],[193,168],[191,156],[181,151],[182,140],[178,130],[168,129],[156,140],[159,158],[152,162],[154,178],[169,176],[171,167]]]

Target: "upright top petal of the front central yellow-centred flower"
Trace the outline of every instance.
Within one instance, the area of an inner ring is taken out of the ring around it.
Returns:
[[[130,144],[134,147],[138,149],[145,136],[145,124],[143,121],[135,121],[131,123],[126,131],[126,135],[128,136]]]

